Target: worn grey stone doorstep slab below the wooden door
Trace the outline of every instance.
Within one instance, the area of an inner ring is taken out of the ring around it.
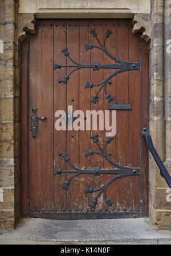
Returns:
[[[15,230],[0,230],[0,244],[171,245],[171,231],[154,229],[149,218],[76,221],[23,218]]]

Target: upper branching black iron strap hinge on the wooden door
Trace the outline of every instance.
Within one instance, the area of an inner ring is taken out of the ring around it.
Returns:
[[[90,31],[90,33],[92,34],[92,37],[96,38],[97,43],[99,43],[99,46],[94,46],[92,44],[86,44],[85,45],[85,49],[86,51],[88,50],[92,50],[93,48],[97,48],[101,51],[103,51],[106,55],[108,55],[109,58],[113,59],[113,61],[116,61],[119,64],[100,64],[100,62],[93,62],[93,64],[91,65],[86,65],[86,64],[82,64],[82,63],[78,63],[76,61],[74,61],[71,57],[70,57],[70,53],[67,49],[67,47],[65,49],[62,50],[62,53],[64,53],[64,55],[70,59],[70,61],[72,63],[74,63],[75,65],[61,65],[61,64],[56,64],[54,63],[54,70],[55,69],[61,69],[61,67],[74,67],[74,69],[68,74],[65,75],[63,79],[59,80],[59,83],[65,83],[67,85],[67,82],[70,78],[70,75],[72,73],[74,73],[74,71],[79,70],[79,69],[93,69],[93,71],[99,71],[100,69],[117,69],[116,71],[114,71],[113,73],[111,73],[107,78],[105,78],[103,81],[101,81],[100,83],[92,83],[92,82],[88,82],[86,81],[85,83],[85,87],[87,88],[92,88],[94,86],[100,86],[99,90],[97,90],[96,94],[93,95],[93,97],[91,99],[89,99],[89,101],[91,101],[92,103],[96,103],[96,101],[98,101],[98,97],[97,95],[100,93],[101,89],[104,87],[104,91],[105,91],[105,98],[108,100],[108,103],[113,101],[113,97],[107,93],[107,83],[110,83],[110,80],[112,77],[114,77],[116,74],[121,73],[123,71],[126,70],[139,70],[140,69],[140,63],[136,63],[136,62],[127,62],[127,61],[121,61],[121,59],[117,59],[116,57],[114,57],[111,53],[109,53],[109,51],[107,50],[106,46],[105,46],[105,41],[107,38],[109,38],[109,36],[111,34],[113,34],[110,30],[107,29],[105,35],[104,35],[104,41],[103,41],[103,45],[101,44],[101,42],[99,41],[99,39],[97,38],[97,33],[95,29],[92,29]]]

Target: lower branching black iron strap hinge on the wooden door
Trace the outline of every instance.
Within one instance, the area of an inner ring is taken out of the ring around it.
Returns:
[[[107,154],[107,145],[113,140],[113,137],[107,137],[105,139],[105,146],[104,146],[104,149],[102,149],[102,147],[99,145],[98,136],[99,136],[98,134],[93,134],[90,138],[93,140],[94,143],[96,143],[96,145],[99,147],[100,151],[94,151],[92,149],[89,149],[89,150],[86,149],[85,150],[86,157],[88,157],[89,155],[93,155],[93,154],[102,155],[105,159],[107,159],[107,161],[109,163],[111,163],[113,166],[117,167],[118,169],[100,169],[99,166],[93,167],[92,170],[80,169],[80,168],[76,167],[75,165],[73,165],[70,162],[70,157],[68,156],[68,153],[64,153],[64,154],[59,153],[59,156],[63,157],[64,161],[68,162],[74,170],[54,169],[54,175],[61,174],[61,173],[74,173],[74,175],[72,175],[72,177],[69,178],[67,181],[65,181],[64,184],[62,185],[63,189],[66,189],[66,190],[70,186],[71,180],[73,178],[75,178],[77,175],[80,175],[80,174],[88,174],[88,173],[90,174],[90,173],[92,173],[95,176],[100,175],[100,174],[117,174],[115,177],[111,178],[107,183],[105,183],[103,186],[101,186],[99,188],[93,188],[93,187],[87,187],[87,186],[85,187],[85,192],[86,193],[93,193],[95,191],[99,191],[99,193],[97,194],[95,199],[93,199],[92,202],[89,203],[89,206],[91,206],[92,209],[95,209],[96,204],[97,204],[97,199],[100,197],[100,195],[102,193],[104,194],[105,203],[107,203],[108,207],[113,204],[111,199],[107,198],[107,196],[106,196],[106,190],[107,190],[108,186],[113,181],[115,181],[116,179],[128,176],[128,175],[140,175],[140,169],[138,169],[138,168],[129,168],[129,167],[126,167],[126,166],[119,165],[116,162],[112,161],[112,159],[108,156],[108,154]]]

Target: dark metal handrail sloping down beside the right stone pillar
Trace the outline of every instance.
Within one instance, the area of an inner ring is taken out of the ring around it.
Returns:
[[[150,153],[152,153],[153,158],[156,161],[158,168],[160,169],[161,176],[165,179],[166,183],[171,188],[171,177],[170,177],[168,171],[166,170],[164,163],[161,161],[159,155],[157,154],[156,149],[153,146],[151,135],[148,133],[148,130],[146,128],[143,128],[143,130],[141,131],[141,134],[146,139],[146,143],[148,145],[149,151],[150,151]]]

